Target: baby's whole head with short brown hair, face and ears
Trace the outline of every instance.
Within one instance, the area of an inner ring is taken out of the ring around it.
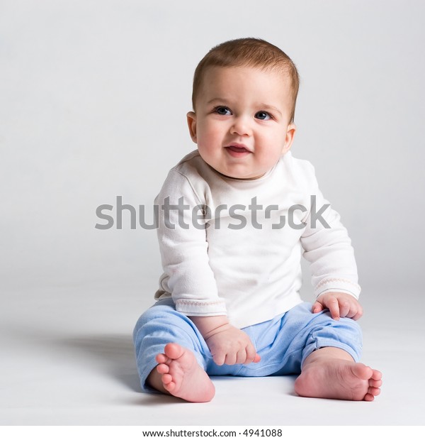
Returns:
[[[188,127],[200,156],[227,177],[257,179],[290,150],[297,69],[256,38],[217,45],[196,67]]]

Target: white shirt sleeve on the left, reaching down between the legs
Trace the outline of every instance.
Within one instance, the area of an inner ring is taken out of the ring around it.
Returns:
[[[218,296],[209,264],[205,221],[199,219],[203,203],[191,182],[171,170],[155,204],[162,289],[171,293],[176,310],[187,316],[225,315],[225,301]]]

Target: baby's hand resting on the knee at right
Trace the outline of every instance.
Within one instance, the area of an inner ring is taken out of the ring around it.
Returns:
[[[351,318],[357,320],[363,314],[363,308],[357,299],[348,293],[343,292],[327,292],[320,295],[312,307],[313,313],[322,312],[329,309],[333,319]]]

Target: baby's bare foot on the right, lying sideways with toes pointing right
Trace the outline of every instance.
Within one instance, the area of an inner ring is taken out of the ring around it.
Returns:
[[[371,402],[380,393],[381,378],[380,371],[363,363],[318,359],[302,369],[295,380],[295,392],[304,397]]]

